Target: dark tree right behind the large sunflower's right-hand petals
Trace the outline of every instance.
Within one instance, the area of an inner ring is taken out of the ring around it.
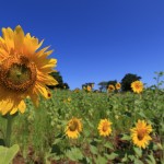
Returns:
[[[57,72],[54,71],[50,73],[50,75],[54,77],[54,79],[58,82],[58,84],[57,85],[48,85],[49,89],[55,89],[55,87],[69,89],[68,83],[63,83],[62,77],[59,71],[57,71]]]

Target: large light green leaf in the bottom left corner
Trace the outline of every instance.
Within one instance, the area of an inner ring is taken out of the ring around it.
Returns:
[[[19,150],[20,148],[17,144],[12,145],[11,148],[0,145],[0,164],[11,163]]]

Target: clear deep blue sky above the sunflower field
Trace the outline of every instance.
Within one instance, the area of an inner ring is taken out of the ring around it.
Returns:
[[[164,0],[2,1],[0,28],[21,25],[51,45],[71,89],[126,73],[154,84],[164,71]],[[97,85],[95,86],[97,87]]]

